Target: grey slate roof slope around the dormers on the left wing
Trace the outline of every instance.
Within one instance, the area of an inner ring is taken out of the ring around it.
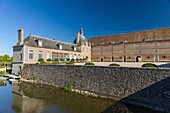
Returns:
[[[42,41],[42,47],[38,46],[38,40]],[[74,47],[76,47],[76,52],[81,52],[80,48],[76,44],[53,40],[36,35],[29,35],[27,38],[25,38],[23,45],[49,49],[59,49],[59,45],[62,45],[62,50],[74,51]]]

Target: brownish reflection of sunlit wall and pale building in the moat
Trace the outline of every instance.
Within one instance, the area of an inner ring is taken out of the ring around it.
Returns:
[[[58,110],[60,113],[100,113],[114,103],[110,99],[85,97],[48,85],[22,82],[20,86],[26,97],[18,98],[16,93],[19,93],[19,90],[13,93],[13,108],[16,112],[37,113],[37,110],[51,110],[51,113],[56,113]],[[15,87],[18,86],[13,85],[13,89]]]

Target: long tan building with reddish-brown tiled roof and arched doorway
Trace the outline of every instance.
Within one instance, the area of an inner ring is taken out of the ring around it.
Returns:
[[[170,61],[170,28],[89,39],[94,62]]]

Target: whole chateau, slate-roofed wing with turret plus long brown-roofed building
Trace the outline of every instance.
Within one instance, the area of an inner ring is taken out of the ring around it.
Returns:
[[[167,62],[170,61],[170,28],[92,37],[88,41],[81,28],[73,43],[29,35],[18,30],[13,46],[13,73],[23,64],[37,63],[39,58],[80,59],[92,62]]]

